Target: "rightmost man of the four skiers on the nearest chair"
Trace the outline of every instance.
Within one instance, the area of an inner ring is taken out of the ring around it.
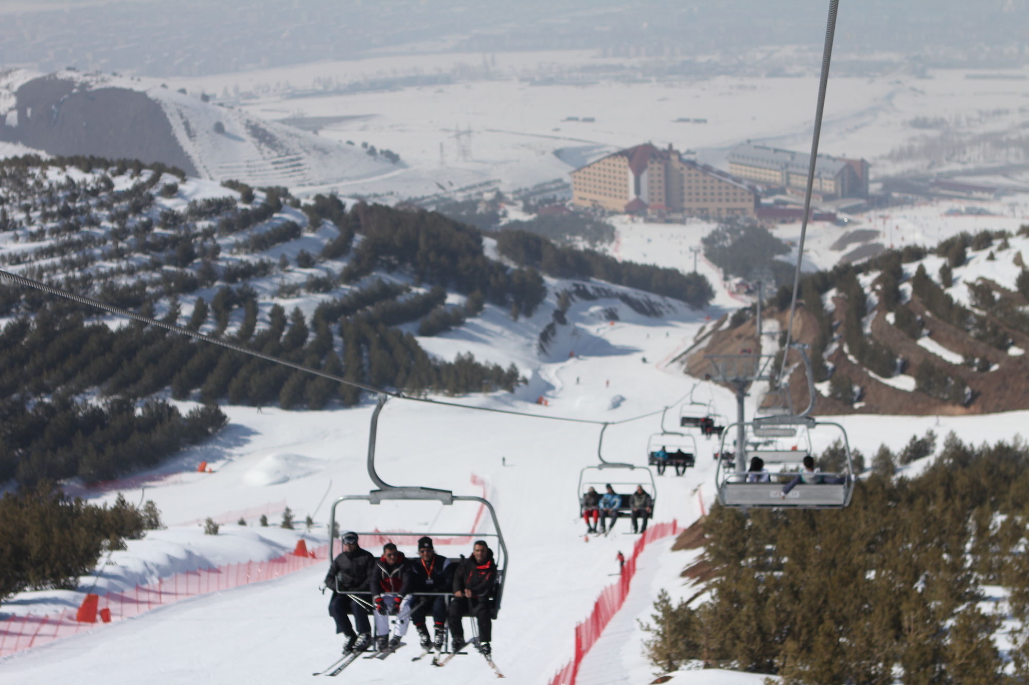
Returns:
[[[497,565],[493,551],[483,540],[476,540],[471,556],[463,560],[454,572],[454,600],[449,611],[449,623],[455,652],[467,643],[461,616],[473,616],[478,622],[478,649],[490,656],[490,637],[493,611],[493,592],[497,584]]]

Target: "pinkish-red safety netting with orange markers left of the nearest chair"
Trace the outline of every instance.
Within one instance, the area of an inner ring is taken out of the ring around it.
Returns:
[[[212,569],[177,573],[155,583],[136,585],[128,591],[87,594],[82,606],[76,610],[68,609],[48,616],[11,616],[0,621],[0,657],[90,630],[98,622],[109,623],[198,594],[280,578],[294,571],[323,564],[327,561],[327,552],[328,545],[321,545],[310,552],[305,545],[297,545],[294,552],[268,562],[226,564]]]

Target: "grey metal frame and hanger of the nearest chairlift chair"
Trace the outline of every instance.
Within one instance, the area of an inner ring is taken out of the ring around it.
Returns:
[[[457,539],[467,539],[477,540],[477,539],[495,539],[496,548],[494,550],[494,563],[497,567],[497,580],[496,586],[492,596],[492,618],[497,617],[497,613],[500,611],[500,603],[503,598],[504,583],[507,579],[507,545],[504,542],[503,533],[500,530],[500,521],[497,519],[497,513],[490,504],[489,500],[483,497],[475,497],[471,495],[455,495],[449,490],[439,490],[436,488],[422,488],[418,485],[390,485],[379,477],[376,472],[375,460],[376,460],[376,437],[379,427],[379,414],[382,412],[383,405],[386,403],[387,396],[385,394],[379,395],[379,401],[376,405],[375,411],[371,413],[371,427],[368,432],[368,456],[367,456],[367,469],[368,476],[371,481],[379,486],[378,490],[372,490],[367,495],[344,495],[336,498],[332,503],[331,510],[329,512],[329,524],[328,530],[330,531],[329,536],[329,568],[331,568],[332,560],[335,555],[342,551],[342,549],[336,548],[335,531],[336,529],[336,507],[345,502],[367,502],[368,504],[379,505],[383,502],[415,502],[415,501],[434,501],[439,502],[443,506],[453,506],[456,503],[469,502],[472,504],[482,505],[485,511],[489,514],[490,520],[493,525],[492,533],[485,533],[478,531],[458,531],[458,532],[446,532],[446,531],[358,531],[358,536],[369,536],[378,537],[379,539],[392,540],[397,544],[404,544],[404,541],[417,540],[423,535],[434,538],[457,538]],[[341,521],[340,530],[348,530],[345,521]],[[470,544],[470,542],[469,542]],[[448,588],[449,589],[449,588]],[[371,594],[371,592],[352,592],[353,594]],[[418,592],[418,594],[423,596],[446,596],[447,598],[453,597],[453,592],[442,591],[442,592]]]

